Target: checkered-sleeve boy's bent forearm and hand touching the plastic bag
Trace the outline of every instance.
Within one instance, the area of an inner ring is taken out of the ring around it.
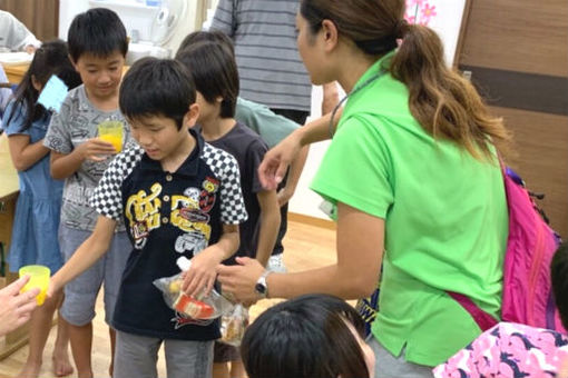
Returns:
[[[217,266],[233,256],[239,243],[238,225],[223,225],[219,240],[192,259],[192,267],[185,273],[182,289],[194,298],[204,289],[209,292],[217,277]]]

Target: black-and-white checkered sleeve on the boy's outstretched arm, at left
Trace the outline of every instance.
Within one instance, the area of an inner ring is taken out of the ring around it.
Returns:
[[[135,146],[119,153],[105,170],[89,205],[97,212],[116,221],[123,216],[123,181],[140,161],[144,150]]]

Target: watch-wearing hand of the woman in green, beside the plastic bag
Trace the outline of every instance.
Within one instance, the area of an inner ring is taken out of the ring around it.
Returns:
[[[221,289],[223,292],[229,292],[237,301],[249,306],[259,299],[255,286],[264,272],[264,267],[248,257],[237,257],[236,261],[238,265],[218,267]]]

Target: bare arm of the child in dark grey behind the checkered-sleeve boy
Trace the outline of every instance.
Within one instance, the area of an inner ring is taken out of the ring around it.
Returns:
[[[258,231],[258,247],[256,259],[266,267],[268,258],[274,250],[274,243],[278,237],[280,206],[274,190],[263,190],[256,193],[261,206],[261,221]]]

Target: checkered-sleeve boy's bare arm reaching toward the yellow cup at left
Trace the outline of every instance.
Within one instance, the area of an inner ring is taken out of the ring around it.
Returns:
[[[51,277],[48,295],[51,296],[67,282],[90,268],[105,255],[115,236],[116,220],[99,216],[90,237],[85,240],[57,273]],[[126,251],[125,251],[126,252]]]

